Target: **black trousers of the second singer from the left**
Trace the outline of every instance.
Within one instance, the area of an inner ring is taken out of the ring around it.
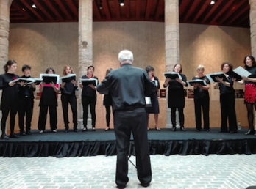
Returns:
[[[27,97],[18,102],[18,127],[20,132],[24,132],[24,116],[26,114],[26,131],[31,129],[31,120],[33,115],[34,99]]]

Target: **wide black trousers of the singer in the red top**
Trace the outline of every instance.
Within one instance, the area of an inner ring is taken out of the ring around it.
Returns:
[[[46,119],[49,107],[50,127],[51,130],[57,129],[57,106],[56,105],[41,105],[38,119],[38,130],[46,130]]]

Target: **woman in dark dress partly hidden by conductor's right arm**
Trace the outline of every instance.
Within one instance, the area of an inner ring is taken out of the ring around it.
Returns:
[[[150,80],[154,81],[157,89],[160,89],[159,80],[154,76],[154,67],[148,66],[146,67],[146,72],[149,74]],[[148,114],[148,130],[149,130],[149,114],[154,114],[154,122],[155,122],[155,130],[160,130],[158,127],[158,114],[159,114],[159,103],[157,98],[157,90],[150,95],[151,107],[146,107],[146,113]]]

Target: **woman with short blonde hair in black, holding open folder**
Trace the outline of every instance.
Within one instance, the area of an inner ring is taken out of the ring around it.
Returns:
[[[202,130],[202,114],[203,112],[203,119],[204,119],[204,129],[209,131],[210,123],[209,123],[209,104],[210,104],[210,97],[209,97],[209,88],[210,88],[210,81],[204,75],[205,67],[203,65],[199,65],[197,67],[197,73],[193,80],[201,79],[206,82],[206,86],[202,86],[200,84],[195,84],[193,86],[193,102],[195,104],[195,115],[196,115],[196,130]]]

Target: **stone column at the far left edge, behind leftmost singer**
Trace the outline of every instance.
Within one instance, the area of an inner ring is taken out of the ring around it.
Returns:
[[[0,0],[0,74],[4,73],[2,67],[4,67],[4,64],[6,64],[8,60],[10,5],[12,2],[13,0]],[[0,111],[0,119],[1,116],[2,115]],[[7,127],[5,132],[7,132]]]

